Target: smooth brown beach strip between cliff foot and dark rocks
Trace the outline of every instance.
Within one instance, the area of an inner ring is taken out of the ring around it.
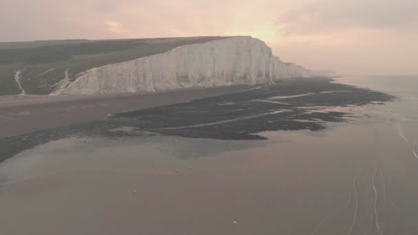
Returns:
[[[0,138],[49,128],[103,120],[111,113],[148,109],[244,91],[248,86],[178,89],[93,96],[0,97]]]

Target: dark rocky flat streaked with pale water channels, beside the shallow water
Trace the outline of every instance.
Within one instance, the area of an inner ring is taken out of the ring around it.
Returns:
[[[263,131],[323,131],[327,122],[344,122],[351,115],[326,111],[327,107],[382,105],[393,99],[382,92],[334,83],[331,78],[293,78],[223,96],[116,113],[107,120],[5,137],[0,139],[0,161],[64,137],[176,135],[250,140],[265,139],[258,134]],[[125,126],[133,131],[118,131]]]

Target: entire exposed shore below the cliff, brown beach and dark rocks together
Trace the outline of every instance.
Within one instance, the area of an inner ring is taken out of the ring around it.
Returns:
[[[258,134],[264,131],[324,131],[329,123],[349,118],[351,112],[342,107],[361,107],[375,101],[383,104],[393,98],[331,81],[294,78],[259,89],[193,89],[12,107],[14,111],[6,113],[8,118],[0,117],[4,119],[0,128],[5,129],[1,134],[11,135],[0,136],[0,161],[66,137],[173,135],[255,140],[267,139]],[[306,93],[311,95],[299,96]],[[286,103],[254,102],[283,97],[287,97]],[[126,128],[131,131],[120,131]]]

